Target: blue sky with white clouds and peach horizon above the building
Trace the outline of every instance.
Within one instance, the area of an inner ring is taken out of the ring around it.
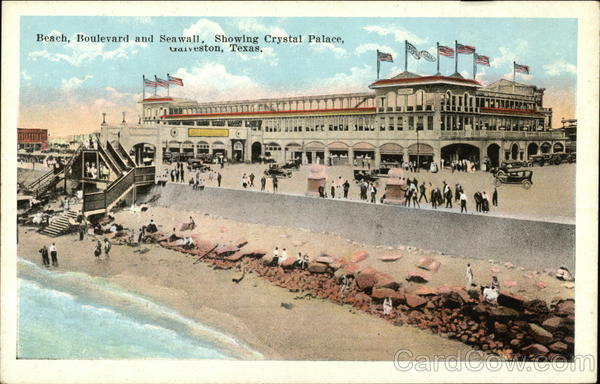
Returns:
[[[435,56],[436,42],[454,40],[490,57],[478,66],[477,80],[512,79],[512,62],[528,65],[517,81],[546,88],[545,105],[560,119],[575,118],[577,20],[540,18],[233,18],[233,17],[37,17],[21,18],[19,127],[47,128],[50,139],[99,129],[102,112],[120,123],[122,112],[137,122],[142,75],[169,73],[184,81],[171,96],[199,102],[264,97],[366,92],[376,80],[376,50],[391,53],[381,78],[404,70],[404,41]],[[38,41],[38,34],[70,41]],[[76,35],[129,35],[129,43],[76,42]],[[136,36],[154,42],[135,42]],[[203,44],[161,43],[160,35],[198,35],[223,52],[171,52],[169,47]],[[259,52],[232,52],[215,35],[257,36]],[[300,44],[273,44],[265,35],[303,36]],[[309,43],[308,36],[333,36],[338,43]],[[440,57],[440,72],[454,72],[454,60]],[[459,55],[459,72],[472,78],[472,56]],[[436,73],[436,63],[409,55],[408,70]],[[153,89],[146,89],[146,96]],[[159,94],[166,94],[160,89]]]

